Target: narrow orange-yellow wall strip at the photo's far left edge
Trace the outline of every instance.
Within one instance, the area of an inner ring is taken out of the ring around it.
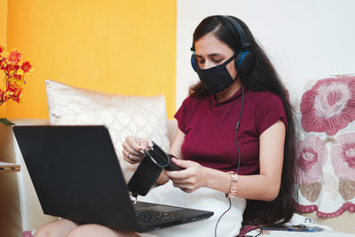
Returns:
[[[6,47],[7,41],[7,0],[0,0],[0,45]],[[0,72],[0,88],[3,88],[2,76],[3,72]],[[0,106],[0,118],[6,115],[6,105]]]

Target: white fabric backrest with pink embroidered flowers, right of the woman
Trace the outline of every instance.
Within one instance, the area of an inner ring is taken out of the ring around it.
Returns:
[[[355,212],[355,75],[314,80],[298,109],[298,209]]]

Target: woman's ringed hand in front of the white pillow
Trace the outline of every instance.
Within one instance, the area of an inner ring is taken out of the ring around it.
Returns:
[[[145,155],[143,150],[148,149],[148,141],[145,138],[127,136],[122,146],[123,160],[135,164],[140,162]]]

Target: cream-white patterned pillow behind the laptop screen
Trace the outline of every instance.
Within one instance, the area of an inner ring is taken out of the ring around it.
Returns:
[[[128,180],[137,165],[122,160],[127,135],[153,140],[168,151],[168,121],[163,95],[138,97],[108,94],[46,80],[51,125],[106,125]]]

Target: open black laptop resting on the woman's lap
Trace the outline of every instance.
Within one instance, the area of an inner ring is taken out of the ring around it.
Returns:
[[[44,214],[135,232],[213,215],[131,201],[105,126],[14,126],[13,132]]]

